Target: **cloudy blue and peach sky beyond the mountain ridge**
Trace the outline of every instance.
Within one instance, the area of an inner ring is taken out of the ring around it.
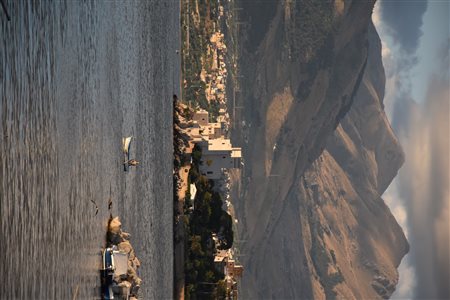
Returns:
[[[383,195],[410,243],[392,298],[450,299],[449,2],[378,1],[385,109],[405,164]]]

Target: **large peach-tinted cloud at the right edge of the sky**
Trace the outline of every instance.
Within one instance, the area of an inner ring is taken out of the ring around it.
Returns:
[[[448,72],[448,71],[447,71]],[[444,76],[429,80],[425,102],[402,130],[406,163],[399,190],[407,198],[411,259],[419,298],[449,296],[449,88]]]

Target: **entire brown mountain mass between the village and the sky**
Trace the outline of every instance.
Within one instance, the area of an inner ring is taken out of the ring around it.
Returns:
[[[251,59],[242,69],[243,122],[234,131],[245,158],[235,203],[246,268],[241,292],[389,296],[408,244],[380,195],[404,158],[383,111],[373,3],[271,5],[258,14],[254,2],[244,3],[252,10],[243,55]],[[308,10],[325,26],[302,23]],[[255,33],[258,22],[265,34]],[[311,37],[318,38],[305,42]]]

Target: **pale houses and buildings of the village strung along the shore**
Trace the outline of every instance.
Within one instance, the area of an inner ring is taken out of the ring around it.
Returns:
[[[221,15],[223,7],[221,7]],[[208,45],[208,57],[212,58],[206,71],[202,68],[200,79],[206,84],[206,99],[209,103],[216,101],[219,105],[219,115],[216,122],[210,122],[210,114],[206,110],[197,110],[192,122],[184,128],[189,137],[190,146],[186,148],[186,154],[190,155],[194,145],[200,146],[202,150],[199,171],[203,176],[216,182],[216,187],[223,185],[229,187],[228,169],[241,168],[242,151],[239,147],[233,147],[230,139],[226,138],[230,116],[226,106],[226,78],[227,68],[225,65],[225,54],[227,47],[224,42],[224,34],[215,32]],[[195,199],[196,187],[190,185],[191,200]],[[227,196],[228,199],[229,196]],[[194,203],[194,201],[192,201]],[[228,203],[228,200],[227,200]],[[193,207],[192,207],[193,209]],[[218,237],[213,234],[212,240],[218,249]],[[233,258],[233,250],[217,250],[214,257],[214,265],[219,272],[224,274],[227,290],[227,299],[237,299],[237,280],[242,276],[243,267]]]

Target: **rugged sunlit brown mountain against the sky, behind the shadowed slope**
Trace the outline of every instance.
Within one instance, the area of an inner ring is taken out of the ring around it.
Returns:
[[[302,176],[298,195],[308,268],[318,276],[315,292],[334,291],[346,299],[389,297],[408,252],[380,197],[404,157],[383,111],[384,70],[373,27],[369,41],[367,69],[352,108]]]

